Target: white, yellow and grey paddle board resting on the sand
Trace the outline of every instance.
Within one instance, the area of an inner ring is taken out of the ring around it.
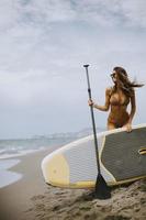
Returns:
[[[116,129],[97,134],[101,174],[114,186],[146,177],[146,124],[132,132]],[[45,182],[68,188],[92,188],[98,168],[93,135],[75,141],[42,162]]]

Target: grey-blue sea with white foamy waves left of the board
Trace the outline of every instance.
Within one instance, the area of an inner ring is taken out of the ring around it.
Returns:
[[[98,129],[97,131],[103,130]],[[47,148],[57,148],[91,133],[92,129],[85,129],[75,133],[50,134],[32,139],[0,140],[0,188],[23,178],[22,174],[9,170],[21,163],[21,155]]]

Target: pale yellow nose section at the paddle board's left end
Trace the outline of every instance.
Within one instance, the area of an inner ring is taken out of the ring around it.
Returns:
[[[67,186],[69,184],[69,166],[61,154],[44,158],[42,169],[45,182],[53,186]]]

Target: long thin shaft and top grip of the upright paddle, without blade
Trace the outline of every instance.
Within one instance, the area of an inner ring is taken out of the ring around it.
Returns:
[[[88,95],[89,95],[89,99],[92,100],[91,88],[90,88],[90,80],[89,80],[89,73],[88,73],[88,66],[89,65],[83,65],[83,67],[86,68],[86,74],[87,74]],[[92,128],[93,128],[93,136],[94,136],[94,148],[96,148],[96,156],[97,156],[98,173],[101,174],[100,162],[99,162],[99,150],[98,150],[98,139],[97,139],[96,121],[94,121],[94,113],[93,113],[93,106],[92,105],[90,106],[90,111],[91,111],[91,119],[92,119]]]

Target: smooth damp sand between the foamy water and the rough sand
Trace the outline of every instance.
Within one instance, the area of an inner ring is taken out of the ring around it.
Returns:
[[[2,220],[20,220],[31,206],[31,197],[37,194],[44,194],[46,184],[44,182],[41,162],[52,150],[42,150],[13,160],[20,160],[20,163],[8,170],[22,174],[18,182],[0,188],[0,213]],[[24,215],[25,216],[25,215]],[[24,218],[25,219],[25,218]]]

